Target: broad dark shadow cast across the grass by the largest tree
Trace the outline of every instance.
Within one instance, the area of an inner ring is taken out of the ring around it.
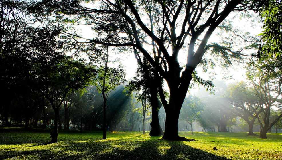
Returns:
[[[146,141],[141,138],[60,141],[41,147],[5,151],[0,154],[0,159],[21,159],[29,155],[39,159],[226,159],[180,141],[160,141],[156,138]]]

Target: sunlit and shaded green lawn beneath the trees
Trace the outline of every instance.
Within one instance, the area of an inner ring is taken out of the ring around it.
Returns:
[[[165,141],[141,132],[61,131],[58,143],[48,130],[0,128],[0,159],[282,159],[282,134],[268,139],[247,133],[204,133],[181,136],[195,142]],[[216,147],[218,150],[213,150]]]

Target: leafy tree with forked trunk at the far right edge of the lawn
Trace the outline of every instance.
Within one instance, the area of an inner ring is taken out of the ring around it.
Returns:
[[[248,67],[248,78],[253,84],[256,96],[259,99],[259,110],[263,110],[261,114],[257,114],[257,120],[261,125],[260,138],[267,138],[266,133],[279,121],[282,113],[271,121],[271,108],[281,107],[281,86],[282,86],[282,57],[272,58],[263,55],[261,61],[251,61]]]

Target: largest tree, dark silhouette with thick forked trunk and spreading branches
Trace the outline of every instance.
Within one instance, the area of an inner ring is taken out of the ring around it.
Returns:
[[[195,76],[195,68],[200,64],[204,54],[210,48],[218,48],[224,58],[239,58],[240,52],[232,52],[230,46],[208,44],[208,39],[214,30],[233,11],[243,11],[252,5],[253,1],[93,1],[93,5],[85,5],[80,1],[43,1],[35,5],[44,14],[58,13],[62,15],[78,15],[78,19],[85,18],[85,22],[94,24],[93,29],[98,33],[92,39],[78,39],[79,43],[98,43],[108,46],[133,48],[137,60],[141,56],[153,66],[157,77],[162,77],[169,87],[169,100],[166,100],[163,86],[158,83],[158,92],[166,111],[166,125],[163,139],[187,140],[178,136],[178,118],[182,103]],[[153,28],[150,22],[150,9],[154,5]],[[48,9],[46,9],[48,8]],[[50,9],[51,8],[51,9]],[[141,16],[143,16],[141,18]],[[147,17],[146,17],[147,16]],[[58,16],[64,17],[64,16]],[[105,26],[110,26],[113,41],[105,39]],[[124,34],[123,34],[124,33]],[[74,37],[79,35],[68,33]],[[152,42],[148,42],[147,39]],[[155,52],[147,46],[154,46]],[[184,46],[186,51],[184,51]],[[221,51],[225,52],[221,52]],[[228,51],[228,52],[226,52]],[[231,52],[230,52],[231,51]],[[179,55],[185,53],[186,64],[178,62]]]

